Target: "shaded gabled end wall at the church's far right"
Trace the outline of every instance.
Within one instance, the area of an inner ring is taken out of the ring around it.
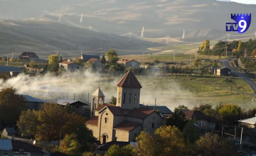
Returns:
[[[160,126],[163,126],[163,118],[161,118],[161,116],[159,116],[156,112],[151,113],[147,118],[144,119],[143,130],[146,130],[149,133],[154,133],[154,131]]]

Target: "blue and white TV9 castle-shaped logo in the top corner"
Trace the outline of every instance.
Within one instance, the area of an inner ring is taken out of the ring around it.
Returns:
[[[233,19],[236,23],[226,23],[226,31],[237,31],[238,33],[245,33],[250,27],[251,16],[251,13],[232,13],[231,19]]]

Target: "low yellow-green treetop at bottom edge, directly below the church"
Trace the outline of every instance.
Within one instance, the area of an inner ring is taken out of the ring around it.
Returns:
[[[107,150],[106,156],[133,156],[134,148],[132,145],[126,145],[124,147],[120,147],[119,145],[112,145]]]

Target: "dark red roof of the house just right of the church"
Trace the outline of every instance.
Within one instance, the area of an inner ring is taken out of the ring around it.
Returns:
[[[201,111],[185,111],[185,118],[189,119],[203,119],[203,120],[208,120],[208,121],[213,121],[213,122],[220,122],[217,118],[213,118],[212,116],[206,116],[205,114],[201,113]]]

